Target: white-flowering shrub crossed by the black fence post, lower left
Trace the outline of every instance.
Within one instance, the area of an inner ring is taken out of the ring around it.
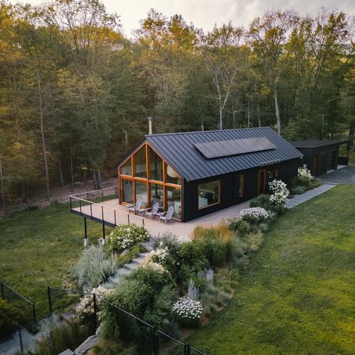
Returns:
[[[99,286],[98,288],[93,288],[91,295],[85,295],[80,301],[79,305],[77,305],[76,313],[77,317],[83,324],[92,320],[94,322],[94,294],[96,297],[96,306],[97,311],[102,303],[102,298],[109,296],[112,293],[112,289],[103,288]]]

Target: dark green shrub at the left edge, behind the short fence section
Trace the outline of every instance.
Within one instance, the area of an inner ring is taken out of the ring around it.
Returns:
[[[26,324],[26,315],[19,305],[0,298],[0,339],[9,336],[24,324]]]

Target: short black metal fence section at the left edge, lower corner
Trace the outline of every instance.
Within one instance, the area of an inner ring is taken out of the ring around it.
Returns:
[[[18,327],[35,322],[35,305],[25,296],[13,290],[9,285],[6,285],[0,280],[0,297],[7,302],[11,302],[18,310],[23,313],[23,320],[18,324]]]

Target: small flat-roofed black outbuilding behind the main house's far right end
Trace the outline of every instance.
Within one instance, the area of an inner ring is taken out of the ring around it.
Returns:
[[[339,146],[346,143],[347,156],[339,156]],[[349,141],[294,141],[291,144],[300,151],[304,158],[302,165],[307,165],[313,176],[320,176],[330,170],[337,170],[339,165],[348,165]]]

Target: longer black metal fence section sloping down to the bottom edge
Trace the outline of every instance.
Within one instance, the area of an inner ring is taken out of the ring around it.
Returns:
[[[77,313],[78,307],[80,307],[80,296],[87,297],[87,301],[92,307],[92,318],[89,319],[89,327],[91,328],[91,335],[93,335],[97,327],[99,326],[99,311],[106,307],[109,312],[114,312],[117,318],[121,322],[132,322],[136,321],[139,327],[143,329],[144,340],[144,350],[142,354],[148,355],[159,355],[163,349],[168,347],[173,347],[175,354],[202,354],[206,355],[204,352],[191,346],[189,343],[182,342],[170,334],[161,332],[157,327],[153,326],[141,320],[141,318],[127,312],[126,310],[113,305],[109,301],[105,300],[99,295],[94,293],[85,293],[83,291],[77,290],[66,290],[62,288],[52,288],[48,287],[48,305],[50,314],[56,314],[60,317],[69,320],[73,315]],[[74,350],[74,349],[72,349]]]

